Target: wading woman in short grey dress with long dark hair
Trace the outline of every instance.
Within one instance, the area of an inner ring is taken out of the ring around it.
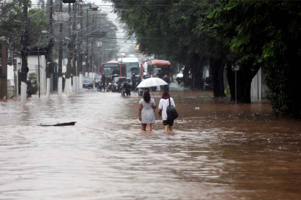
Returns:
[[[144,90],[143,98],[139,102],[138,119],[141,121],[141,130],[152,131],[152,124],[155,123],[154,111],[157,108],[156,102],[151,98],[150,92]]]

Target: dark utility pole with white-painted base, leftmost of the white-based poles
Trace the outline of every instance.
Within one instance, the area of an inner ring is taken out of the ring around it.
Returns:
[[[23,32],[22,32],[22,49],[21,57],[22,57],[22,67],[21,67],[21,104],[26,102],[26,78],[27,72],[29,71],[27,66],[27,56],[28,56],[28,48],[27,48],[27,40],[28,40],[28,11],[27,5],[29,1],[24,1],[23,4]]]

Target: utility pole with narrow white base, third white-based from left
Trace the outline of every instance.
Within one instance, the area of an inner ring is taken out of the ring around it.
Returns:
[[[60,13],[63,13],[63,2],[60,3]],[[63,22],[60,22],[60,35],[58,44],[58,95],[62,95],[62,59],[63,59]]]

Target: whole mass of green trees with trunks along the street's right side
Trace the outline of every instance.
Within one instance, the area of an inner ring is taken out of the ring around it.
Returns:
[[[300,68],[296,66],[301,52],[299,2],[112,2],[128,34],[137,38],[141,52],[185,64],[185,85],[202,88],[202,66],[209,65],[214,96],[225,96],[226,65],[231,100],[250,103],[252,79],[262,68],[273,110],[300,117]],[[237,99],[232,66],[240,67]]]

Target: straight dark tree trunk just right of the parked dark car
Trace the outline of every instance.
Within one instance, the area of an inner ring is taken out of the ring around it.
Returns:
[[[210,58],[210,73],[213,75],[213,95],[215,97],[224,97],[224,67],[225,61],[222,59]]]

